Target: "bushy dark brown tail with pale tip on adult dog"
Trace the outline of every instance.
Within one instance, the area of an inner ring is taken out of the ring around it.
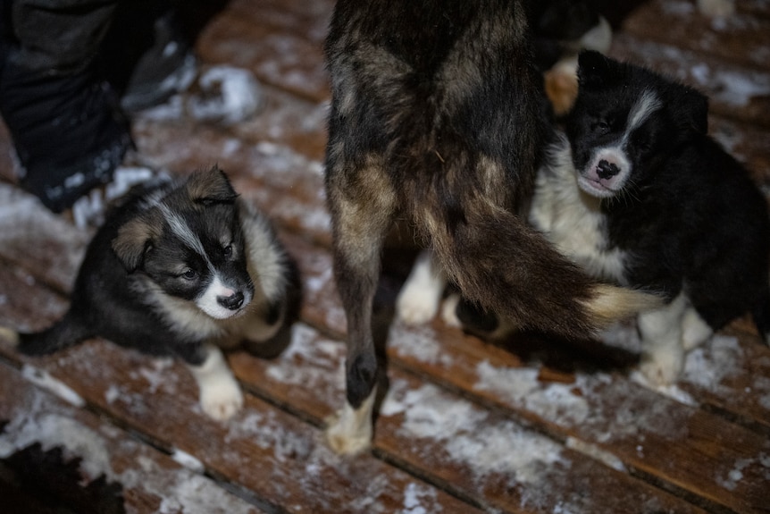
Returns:
[[[465,297],[521,329],[583,339],[662,305],[654,295],[595,282],[521,218],[493,206],[465,223],[426,229]]]

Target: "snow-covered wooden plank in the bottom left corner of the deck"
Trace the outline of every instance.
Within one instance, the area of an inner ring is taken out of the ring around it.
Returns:
[[[0,460],[22,484],[32,481],[30,489],[39,498],[52,496],[54,505],[47,507],[78,512],[262,512],[199,470],[182,466],[180,462],[189,460],[181,454],[175,460],[156,451],[44,392],[5,363],[0,363],[0,398]],[[61,451],[60,462],[56,449]],[[38,454],[46,455],[45,466],[34,459]],[[45,509],[46,501],[40,502]],[[4,509],[9,507],[13,505],[4,496]],[[23,511],[27,509],[25,505]]]

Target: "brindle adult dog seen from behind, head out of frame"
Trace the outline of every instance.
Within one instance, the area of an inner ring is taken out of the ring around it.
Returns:
[[[399,216],[468,299],[523,326],[585,337],[649,305],[598,285],[520,215],[551,134],[521,2],[339,0],[325,52],[325,185],[348,332],[335,451],[371,439],[372,297]]]

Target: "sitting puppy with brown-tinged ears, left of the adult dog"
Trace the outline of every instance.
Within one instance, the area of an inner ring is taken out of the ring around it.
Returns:
[[[18,349],[48,354],[99,336],[181,358],[204,412],[224,420],[243,395],[220,348],[247,341],[259,352],[285,335],[290,270],[269,223],[221,170],[141,186],[88,245],[63,319],[19,334]]]

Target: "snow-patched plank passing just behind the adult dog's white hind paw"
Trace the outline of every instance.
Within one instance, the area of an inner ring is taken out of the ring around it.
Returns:
[[[344,398],[344,358],[342,343],[297,324],[280,358],[235,354],[231,363],[255,391],[321,420]],[[570,448],[572,441],[565,446],[398,368],[388,375],[375,453],[487,510],[700,511],[612,468],[615,461],[608,466]]]

